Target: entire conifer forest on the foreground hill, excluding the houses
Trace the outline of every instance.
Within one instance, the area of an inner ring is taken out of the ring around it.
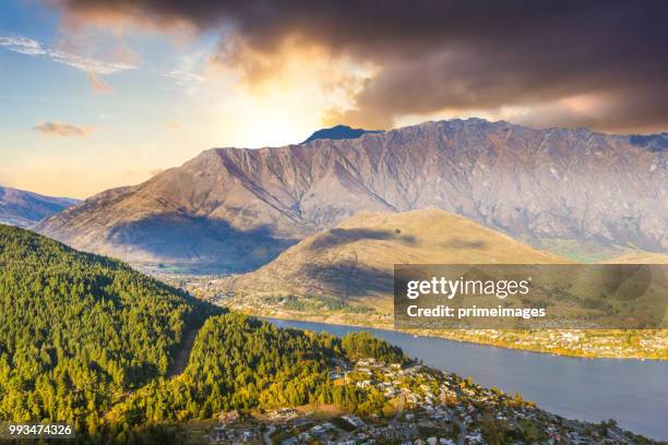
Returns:
[[[170,421],[309,402],[372,412],[335,363],[399,348],[223,313],[124,263],[0,226],[0,420],[75,422],[84,442],[179,441]],[[186,370],[167,378],[199,329]],[[150,443],[148,442],[148,443]]]

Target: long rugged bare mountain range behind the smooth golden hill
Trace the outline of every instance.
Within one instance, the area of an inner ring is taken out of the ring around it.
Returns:
[[[246,270],[359,211],[440,208],[528,242],[666,252],[665,140],[468,119],[278,148],[214,148],[37,229],[133,262]]]

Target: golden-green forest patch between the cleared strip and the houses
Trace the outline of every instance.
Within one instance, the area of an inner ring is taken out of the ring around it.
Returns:
[[[238,313],[206,321],[177,378],[159,380],[114,409],[115,425],[207,419],[217,412],[332,404],[351,411],[382,407],[382,394],[369,397],[354,386],[334,385],[329,372],[336,360],[373,357],[406,361],[402,350],[368,333],[337,338],[271,323]],[[131,431],[116,431],[119,440]]]

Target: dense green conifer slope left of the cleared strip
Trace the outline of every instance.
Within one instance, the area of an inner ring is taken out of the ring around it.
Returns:
[[[110,258],[0,226],[0,420],[95,429],[212,311]]]

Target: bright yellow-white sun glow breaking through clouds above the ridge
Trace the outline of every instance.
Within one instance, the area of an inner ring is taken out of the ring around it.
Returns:
[[[333,110],[343,113],[355,108],[363,83],[378,73],[377,67],[294,43],[286,43],[277,56],[262,63],[261,73],[252,75],[238,67],[214,68],[212,79],[226,80],[218,91],[216,129],[236,146],[303,141],[325,124]]]

